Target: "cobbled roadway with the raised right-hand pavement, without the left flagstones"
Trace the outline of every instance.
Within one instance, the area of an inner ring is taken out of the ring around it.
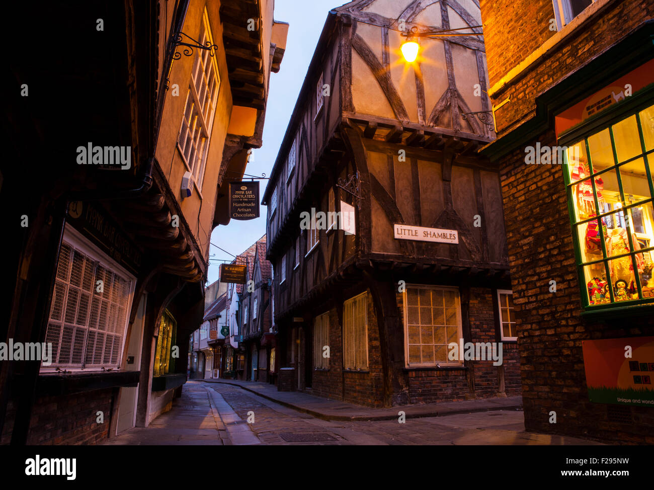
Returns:
[[[483,411],[445,417],[398,421],[324,421],[292,410],[239,387],[202,385],[219,393],[233,411],[247,421],[260,444],[292,445],[559,445],[596,444],[591,441],[525,432],[523,412]],[[185,387],[186,389],[186,387]],[[221,412],[222,414],[222,412]]]

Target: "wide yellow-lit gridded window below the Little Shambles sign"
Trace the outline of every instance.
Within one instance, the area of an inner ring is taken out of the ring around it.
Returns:
[[[407,366],[460,365],[448,359],[447,345],[462,338],[458,290],[407,286],[404,291]]]

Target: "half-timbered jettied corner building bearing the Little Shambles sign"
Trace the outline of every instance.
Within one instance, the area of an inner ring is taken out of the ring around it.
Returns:
[[[494,137],[480,24],[473,0],[328,15],[264,193],[279,389],[370,406],[519,393],[500,181],[477,153]],[[405,33],[435,30],[402,58]],[[503,359],[452,359],[461,342]]]

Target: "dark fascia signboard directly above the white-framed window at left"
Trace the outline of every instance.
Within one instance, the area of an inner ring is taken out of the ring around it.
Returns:
[[[73,201],[68,205],[66,221],[101,251],[131,273],[139,275],[141,250],[100,206],[88,201]]]

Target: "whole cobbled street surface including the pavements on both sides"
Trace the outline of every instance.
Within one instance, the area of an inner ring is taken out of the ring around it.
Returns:
[[[248,423],[254,415],[254,423]],[[326,421],[223,383],[189,381],[172,410],[114,445],[591,445],[525,432],[523,412],[494,410],[441,417]]]

